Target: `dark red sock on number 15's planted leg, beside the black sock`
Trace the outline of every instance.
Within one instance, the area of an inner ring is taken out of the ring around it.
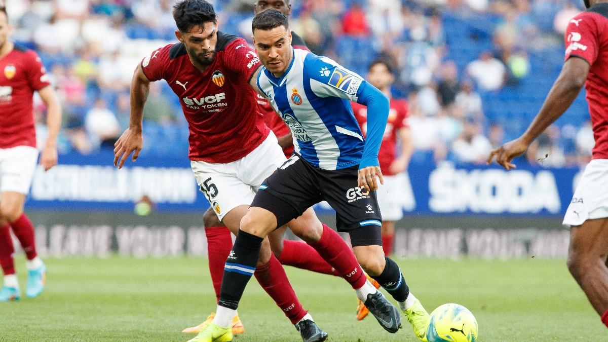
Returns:
[[[306,310],[295,296],[294,289],[289,284],[287,274],[278,259],[271,254],[270,261],[266,265],[255,269],[255,279],[258,279],[261,287],[283,310],[291,324],[298,323],[306,315]]]

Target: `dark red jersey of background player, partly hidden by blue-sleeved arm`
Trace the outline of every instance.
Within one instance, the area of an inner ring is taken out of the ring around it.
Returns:
[[[351,102],[353,106],[354,117],[356,117],[361,126],[361,131],[364,136],[367,134],[367,107],[359,105],[359,103]],[[397,154],[397,132],[401,128],[407,127],[407,101],[402,99],[390,99],[389,120],[384,130],[382,144],[378,152],[378,160],[380,161],[380,169],[382,175],[392,176],[390,172],[390,164],[395,161]]]

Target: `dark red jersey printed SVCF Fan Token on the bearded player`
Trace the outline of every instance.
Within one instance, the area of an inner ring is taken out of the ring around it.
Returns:
[[[142,61],[149,80],[166,80],[179,97],[190,128],[190,160],[214,163],[243,158],[268,136],[249,85],[260,66],[243,38],[223,32],[205,72],[192,65],[184,43],[161,47]]]

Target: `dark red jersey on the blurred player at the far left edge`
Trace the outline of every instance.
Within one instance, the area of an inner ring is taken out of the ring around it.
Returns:
[[[36,52],[15,47],[0,59],[0,148],[36,147],[33,94],[48,85]]]

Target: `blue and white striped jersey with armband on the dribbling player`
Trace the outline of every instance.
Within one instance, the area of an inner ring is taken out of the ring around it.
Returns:
[[[364,139],[349,102],[361,93],[361,76],[330,58],[294,49],[282,77],[262,68],[257,83],[289,126],[295,152],[309,164],[337,170],[361,162]]]

